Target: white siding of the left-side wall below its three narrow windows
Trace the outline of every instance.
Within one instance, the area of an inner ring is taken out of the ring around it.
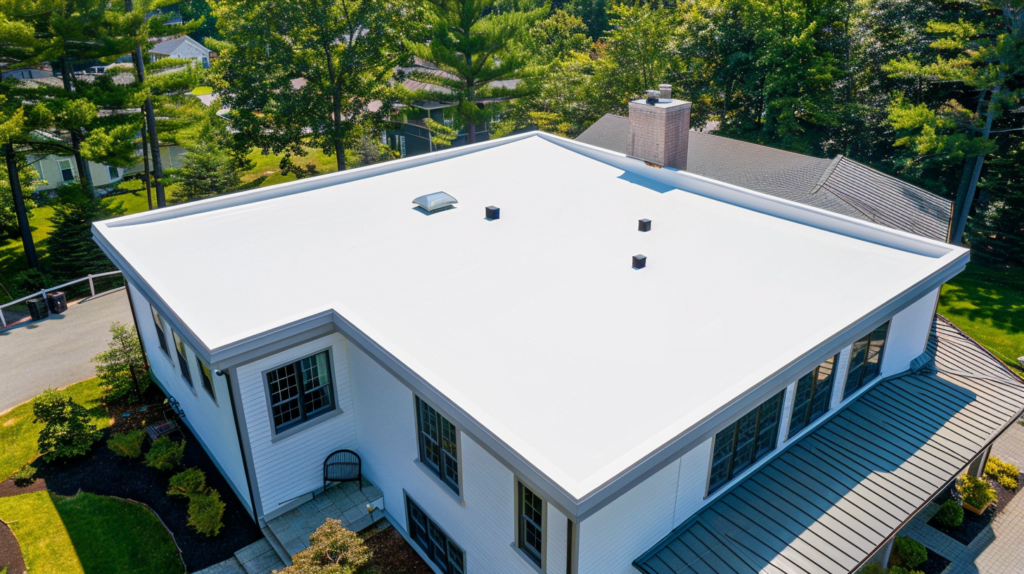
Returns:
[[[203,389],[199,379],[199,366],[191,349],[186,349],[188,368],[196,382],[193,391],[181,377],[177,355],[174,354],[174,342],[171,338],[171,327],[164,321],[164,334],[167,337],[167,348],[170,356],[161,350],[157,339],[157,326],[154,323],[150,302],[130,283],[128,293],[135,307],[138,320],[139,336],[148,353],[150,367],[163,384],[167,394],[177,399],[185,413],[184,422],[200,439],[207,453],[220,469],[234,489],[234,493],[246,509],[252,504],[249,500],[249,487],[246,485],[246,471],[242,460],[242,448],[239,446],[238,433],[234,430],[234,415],[231,413],[231,400],[228,396],[227,381],[223,377],[213,374],[213,386],[217,394],[214,401]],[[226,495],[226,493],[221,493]]]

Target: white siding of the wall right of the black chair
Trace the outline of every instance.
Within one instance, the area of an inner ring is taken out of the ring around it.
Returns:
[[[512,472],[460,433],[464,499],[460,503],[454,492],[414,462],[419,454],[413,392],[354,345],[349,346],[349,359],[364,473],[384,492],[384,503],[397,526],[403,530],[409,526],[404,491],[466,551],[467,572],[535,574],[536,569],[513,547]],[[557,560],[549,558],[553,566]]]

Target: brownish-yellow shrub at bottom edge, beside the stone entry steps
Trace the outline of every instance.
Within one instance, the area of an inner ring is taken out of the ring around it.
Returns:
[[[293,566],[280,574],[354,573],[373,558],[362,538],[341,526],[341,521],[327,519],[309,536],[309,547],[295,555]]]

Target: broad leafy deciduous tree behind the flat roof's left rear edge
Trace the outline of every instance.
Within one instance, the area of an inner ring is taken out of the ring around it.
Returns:
[[[397,101],[408,6],[396,0],[214,2],[224,36],[215,69],[239,149],[302,157],[305,146],[345,169],[356,126],[380,124]]]

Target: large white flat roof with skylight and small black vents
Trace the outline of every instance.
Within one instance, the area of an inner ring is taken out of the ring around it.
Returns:
[[[208,349],[333,309],[577,499],[964,253],[538,133],[96,231]]]

